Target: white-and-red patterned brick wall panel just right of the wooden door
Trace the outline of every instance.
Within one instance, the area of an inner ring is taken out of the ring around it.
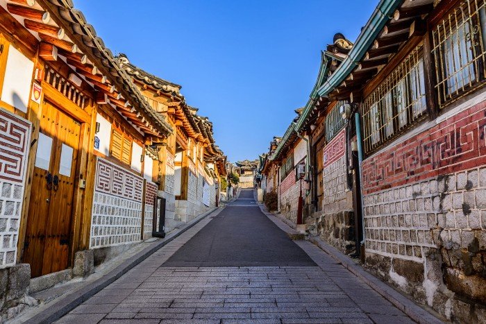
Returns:
[[[90,248],[140,241],[143,179],[98,158]]]

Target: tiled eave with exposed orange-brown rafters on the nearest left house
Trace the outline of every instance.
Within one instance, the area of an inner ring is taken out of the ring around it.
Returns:
[[[171,132],[169,123],[153,113],[131,77],[119,67],[110,49],[72,1],[1,0],[0,5],[1,11],[9,12],[40,41],[40,56],[44,60],[58,61],[58,56],[64,57],[63,61],[76,72],[76,78],[80,76],[79,87],[96,90],[93,93],[98,103],[110,104],[147,135],[164,137]]]

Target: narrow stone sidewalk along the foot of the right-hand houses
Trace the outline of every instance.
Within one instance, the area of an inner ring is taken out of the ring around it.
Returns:
[[[296,235],[302,235],[298,231],[294,230],[291,228],[287,223],[285,223],[283,220],[281,220],[276,214],[268,212],[267,208],[265,205],[259,203],[258,206],[260,207],[260,210],[271,220],[273,221],[281,230],[284,232],[287,232],[287,235],[289,237],[296,237]],[[353,273],[355,276],[356,284],[358,282],[366,284],[367,287],[373,289],[378,293],[381,297],[383,297],[385,300],[390,302],[394,307],[398,308],[403,312],[404,314],[410,316],[412,320],[418,322],[418,323],[443,323],[439,318],[437,318],[434,314],[431,314],[428,310],[420,307],[419,305],[415,304],[410,298],[407,296],[404,296],[402,293],[399,291],[396,291],[394,288],[390,287],[388,284],[385,282],[381,281],[380,279],[376,278],[374,275],[371,273],[367,272],[362,268],[362,266],[355,264],[353,260],[351,260],[349,257],[341,253],[339,250],[336,248],[333,248],[333,246],[330,246],[324,241],[321,241],[319,237],[313,237],[309,235],[305,235],[304,237],[297,236],[298,239],[305,239],[307,241],[310,241],[310,243],[314,244],[315,246],[321,248],[321,250],[324,250],[325,253],[327,253],[335,262],[335,264],[339,264],[346,268],[349,272]],[[305,244],[301,242],[296,242],[305,250],[307,253],[313,253],[312,251],[308,250],[308,248],[305,248]],[[315,252],[314,252],[315,253]],[[312,257],[312,255],[311,255]],[[312,257],[312,259],[315,259],[315,257]],[[328,261],[327,261],[328,262]],[[328,264],[326,262],[316,262],[321,266],[321,268],[326,268]],[[340,285],[339,282],[337,282],[338,285]],[[352,287],[349,287],[351,289],[351,296],[356,296],[356,292],[353,292]],[[359,296],[359,294],[358,294]],[[359,300],[355,300],[356,302],[359,302]],[[368,306],[364,306],[367,308]],[[374,306],[376,307],[376,305]],[[370,309],[371,310],[371,309]],[[389,318],[387,319],[387,316],[378,316],[377,318],[374,318],[374,320],[378,320],[378,322],[381,323],[392,323],[389,322]]]

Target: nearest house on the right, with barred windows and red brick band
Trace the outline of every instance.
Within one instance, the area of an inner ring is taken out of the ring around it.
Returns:
[[[346,102],[364,264],[462,323],[486,321],[485,10],[484,0],[380,1],[315,96]]]

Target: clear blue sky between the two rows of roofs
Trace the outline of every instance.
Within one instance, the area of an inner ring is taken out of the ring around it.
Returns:
[[[378,0],[74,0],[113,53],[182,85],[228,160],[255,159],[308,101],[320,51]]]

